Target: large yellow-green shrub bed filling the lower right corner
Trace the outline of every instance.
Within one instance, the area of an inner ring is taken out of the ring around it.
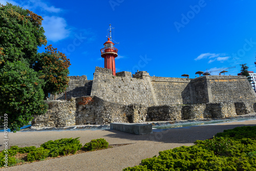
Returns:
[[[142,166],[123,170],[256,170],[256,139],[250,139],[255,137],[253,130],[248,126],[226,130],[213,139],[197,140],[193,146],[159,152],[158,157],[142,160]]]

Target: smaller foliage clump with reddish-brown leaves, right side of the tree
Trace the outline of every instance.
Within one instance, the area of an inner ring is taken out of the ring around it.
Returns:
[[[65,54],[58,51],[57,48],[52,48],[52,45],[46,48],[46,52],[39,54],[40,58],[34,65],[35,71],[41,73],[40,78],[46,82],[43,88],[45,97],[50,93],[61,93],[68,87],[68,74],[70,61]]]

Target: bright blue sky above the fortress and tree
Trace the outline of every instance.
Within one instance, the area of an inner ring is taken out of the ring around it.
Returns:
[[[197,71],[236,67],[226,75],[237,75],[242,63],[256,72],[256,1],[8,2],[44,18],[48,45],[70,59],[70,75],[93,79],[95,67],[104,67],[100,49],[109,24],[115,28],[114,40],[120,42],[115,45],[117,72],[195,78]]]

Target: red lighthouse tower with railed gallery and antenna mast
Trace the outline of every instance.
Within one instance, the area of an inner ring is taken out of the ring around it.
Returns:
[[[117,57],[117,51],[114,47],[114,43],[111,41],[111,25],[110,25],[110,37],[108,37],[108,41],[106,41],[103,45],[104,48],[100,50],[101,57],[104,58],[104,68],[111,69],[113,75],[116,76],[116,65],[115,65],[115,57]]]

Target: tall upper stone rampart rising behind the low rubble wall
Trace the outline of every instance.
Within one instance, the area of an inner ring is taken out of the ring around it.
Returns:
[[[91,95],[119,104],[146,106],[220,102],[256,102],[245,76],[202,76],[194,79],[152,77],[96,67]]]

